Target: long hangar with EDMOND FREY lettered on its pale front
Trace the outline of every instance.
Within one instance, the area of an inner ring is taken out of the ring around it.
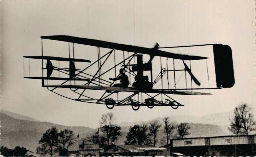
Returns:
[[[186,156],[256,156],[256,135],[171,139],[161,146]]]

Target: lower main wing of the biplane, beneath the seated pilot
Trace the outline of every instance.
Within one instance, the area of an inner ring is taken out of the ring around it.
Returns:
[[[107,86],[84,86],[84,85],[50,85],[44,87],[54,87],[54,88],[76,88],[76,89],[92,89],[92,90],[104,90],[112,92],[142,92],[142,93],[164,93],[164,94],[179,94],[179,95],[211,95],[211,93],[201,93],[201,92],[189,92],[189,91],[166,91],[166,90],[137,90],[134,88],[123,88],[123,87],[107,87]]]

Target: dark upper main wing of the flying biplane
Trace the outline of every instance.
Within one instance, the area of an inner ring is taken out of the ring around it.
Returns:
[[[127,51],[127,52],[142,53],[142,54],[153,55],[153,56],[162,56],[162,57],[181,59],[181,60],[207,59],[207,57],[202,57],[202,56],[176,54],[176,53],[161,51],[158,49],[150,49],[150,48],[144,48],[139,46],[118,44],[114,42],[100,41],[95,39],[79,38],[79,37],[73,37],[68,35],[41,36],[41,38],[57,40],[57,41],[66,41],[66,42],[72,42],[72,43],[78,43],[78,44],[84,44],[84,45],[90,45],[90,46],[97,46],[101,48],[116,49],[116,50]]]

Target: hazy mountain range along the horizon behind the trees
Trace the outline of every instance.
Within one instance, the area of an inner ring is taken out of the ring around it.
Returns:
[[[191,129],[190,135],[187,137],[210,137],[210,136],[222,136],[230,135],[228,131],[229,113],[218,113],[207,116],[170,116],[170,120],[177,123],[188,122]],[[75,135],[79,133],[79,138],[84,138],[89,134],[93,134],[98,129],[92,129],[89,127],[75,127],[75,126],[64,126],[49,122],[40,122],[34,118],[22,116],[12,112],[1,110],[1,146],[8,148],[14,148],[15,146],[22,146],[32,151],[32,155],[36,155],[36,147],[39,146],[38,141],[42,137],[43,133],[56,126],[58,130],[71,129]],[[155,120],[162,122],[162,118],[158,117]],[[117,145],[124,144],[125,136],[129,131],[130,126],[134,124],[148,123],[149,121],[140,121],[134,123],[119,123],[121,126],[122,136],[115,142]],[[163,123],[163,122],[162,122]],[[164,138],[163,128],[158,131],[157,146],[163,145],[161,139]],[[38,155],[37,155],[38,156]]]

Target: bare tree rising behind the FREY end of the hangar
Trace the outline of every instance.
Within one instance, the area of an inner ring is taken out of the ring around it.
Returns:
[[[240,104],[234,109],[235,117],[230,120],[230,128],[234,134],[248,135],[251,131],[256,130],[256,124],[253,115],[250,113],[252,108],[246,103]]]

